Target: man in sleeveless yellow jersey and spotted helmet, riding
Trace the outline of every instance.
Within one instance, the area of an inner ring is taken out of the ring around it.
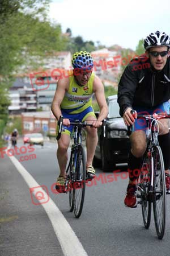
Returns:
[[[56,182],[56,189],[61,192],[66,180],[67,150],[70,144],[70,135],[73,126],[69,119],[74,121],[88,121],[93,127],[86,127],[87,139],[87,177],[93,179],[95,170],[92,166],[95,149],[97,146],[97,127],[102,125],[102,120],[107,117],[108,107],[105,100],[104,86],[100,79],[92,72],[94,66],[89,52],[80,51],[73,54],[73,76],[60,79],[57,83],[56,93],[52,102],[52,112],[59,119],[63,115],[63,127],[61,138],[58,140],[57,159],[60,174]],[[99,117],[96,120],[92,108],[92,97],[95,95],[100,107]]]

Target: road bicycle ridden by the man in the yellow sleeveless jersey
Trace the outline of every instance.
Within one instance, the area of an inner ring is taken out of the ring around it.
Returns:
[[[58,121],[57,140],[61,137],[62,122],[63,117],[61,116]],[[84,204],[86,182],[88,182],[86,156],[82,146],[82,128],[86,126],[92,127],[92,125],[86,121],[81,122],[79,120],[70,122],[70,125],[74,126],[74,143],[71,146],[70,160],[66,169],[65,192],[69,192],[70,212],[74,210],[75,217],[79,218]]]

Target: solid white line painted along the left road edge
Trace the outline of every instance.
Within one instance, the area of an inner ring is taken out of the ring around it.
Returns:
[[[29,172],[22,166],[22,164],[20,164],[14,156],[10,156],[10,159],[12,163],[14,163],[19,173],[23,176],[24,180],[28,184],[28,187],[29,188],[39,187],[38,191],[40,192],[40,194],[44,194],[44,197],[48,198],[49,196],[40,187],[40,185],[36,182],[36,180],[33,179],[33,177],[29,174]],[[35,194],[35,191],[33,192],[34,194]],[[41,203],[41,200],[39,201]],[[44,203],[41,205],[42,207],[44,207],[46,214],[49,217],[49,220],[52,222],[54,232],[56,233],[58,241],[61,245],[63,254],[65,256],[88,256],[82,246],[82,243],[80,243],[80,241],[78,240],[78,237],[74,233],[73,229],[71,229],[69,222],[67,222],[66,218],[58,209],[57,205],[54,203],[52,199],[50,199],[50,197],[49,197],[49,200],[47,201],[48,201],[47,203]]]

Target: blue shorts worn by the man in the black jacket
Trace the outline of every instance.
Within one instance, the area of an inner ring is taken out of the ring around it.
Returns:
[[[137,107],[137,106],[133,106],[133,109],[137,111],[138,114],[140,115],[152,115],[152,114],[169,114],[169,102],[165,101],[164,103],[155,106],[154,108],[143,108],[143,107]],[[135,119],[134,122],[134,130],[143,130],[146,131],[146,119],[145,118],[141,118],[141,119]]]

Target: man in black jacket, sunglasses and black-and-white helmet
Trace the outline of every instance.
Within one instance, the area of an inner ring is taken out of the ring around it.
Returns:
[[[118,84],[118,104],[120,114],[126,125],[134,123],[134,132],[130,135],[131,151],[129,153],[129,184],[125,205],[136,207],[136,190],[142,157],[146,150],[146,123],[135,121],[131,109],[139,114],[169,114],[170,98],[170,38],[165,32],[156,31],[144,41],[145,55],[130,61]],[[170,192],[170,134],[168,119],[161,119],[159,124],[159,145],[162,148],[165,181]]]

